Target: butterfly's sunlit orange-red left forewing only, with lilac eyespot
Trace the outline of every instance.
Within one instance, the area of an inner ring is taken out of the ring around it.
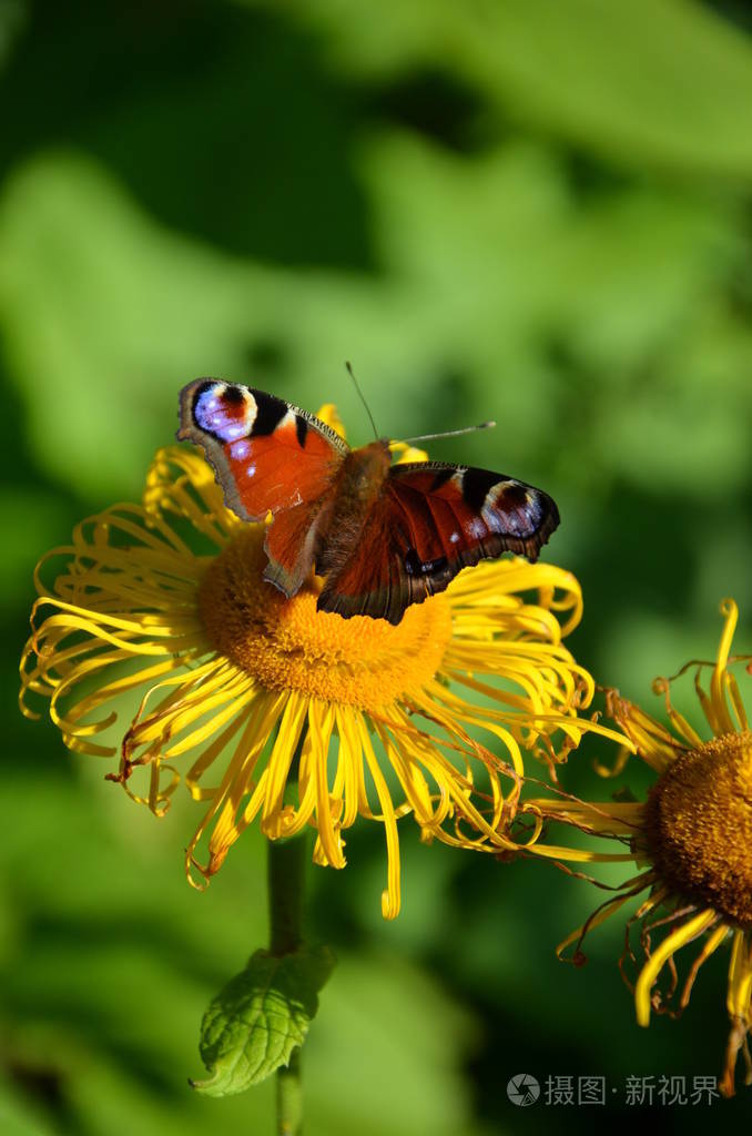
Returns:
[[[242,520],[316,501],[348,444],[314,415],[235,383],[199,378],[181,392],[178,438],[203,448],[225,503]]]

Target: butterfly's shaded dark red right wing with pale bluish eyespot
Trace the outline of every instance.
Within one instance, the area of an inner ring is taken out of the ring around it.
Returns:
[[[399,624],[410,603],[443,592],[466,566],[507,551],[535,560],[558,524],[546,493],[502,474],[393,466],[357,552],[327,577],[318,607]]]

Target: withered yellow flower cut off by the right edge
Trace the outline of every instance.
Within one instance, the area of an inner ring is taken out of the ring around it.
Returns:
[[[528,801],[524,808],[535,817],[534,837],[540,835],[542,821],[551,819],[600,837],[626,841],[632,847],[629,853],[603,853],[538,843],[534,851],[542,855],[580,862],[635,859],[647,866],[558,949],[561,953],[575,943],[573,961],[583,962],[579,947],[585,934],[650,887],[649,897],[629,920],[629,927],[642,921],[645,955],[634,984],[640,1025],[649,1025],[651,1009],[678,1016],[690,1001],[702,963],[730,939],[726,995],[730,1031],[719,1087],[732,1096],[740,1052],[746,1066],[745,1084],[752,1084],[747,1041],[752,1026],[752,730],[732,670],[742,660],[729,659],[738,618],[736,604],[724,601],[721,613],[725,623],[716,662],[691,662],[679,671],[695,670],[695,690],[713,734],[711,741],[703,741],[671,704],[674,679],[660,678],[653,684],[655,693],[666,696],[671,729],[610,691],[611,717],[658,775],[647,799],[596,804],[562,795],[559,801]],[[701,685],[703,669],[711,671],[708,691]],[[659,928],[666,933],[655,944]],[[679,991],[674,957],[701,937],[700,952]],[[623,974],[627,961],[635,961],[628,945],[620,960]],[[657,985],[662,975],[668,976],[665,988]]]

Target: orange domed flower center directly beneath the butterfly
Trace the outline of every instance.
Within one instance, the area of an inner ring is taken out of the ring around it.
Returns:
[[[418,692],[438,670],[452,634],[449,600],[385,619],[316,610],[320,582],[287,600],[262,578],[265,529],[248,525],[211,561],[199,611],[212,646],[267,690],[296,690],[378,710]]]

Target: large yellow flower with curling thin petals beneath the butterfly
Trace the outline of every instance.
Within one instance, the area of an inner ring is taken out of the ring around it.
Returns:
[[[333,408],[321,414],[337,428]],[[257,818],[270,840],[312,826],[315,860],[335,868],[344,830],[378,820],[382,910],[394,918],[400,817],[412,813],[426,841],[509,849],[521,747],[552,762],[554,730],[566,753],[590,727],[577,711],[593,682],[561,643],[579,585],[549,565],[500,561],[462,573],[398,626],[343,619],[316,610],[320,580],[291,600],[262,580],[264,533],[226,509],[197,451],[159,451],[141,506],[78,525],[42,561],[65,561],[50,588],[37,569],[22,705],[49,700],[72,750],[119,752],[109,779],[154,813],[181,782],[204,803],[186,852],[194,886]]]

